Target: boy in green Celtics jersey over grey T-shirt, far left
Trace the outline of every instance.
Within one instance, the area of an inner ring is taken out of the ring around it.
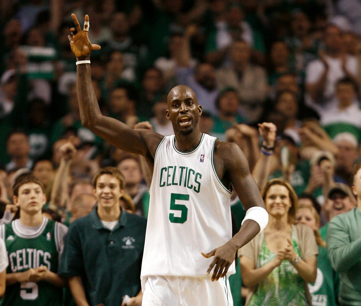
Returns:
[[[42,217],[46,197],[43,184],[35,176],[19,176],[13,192],[20,218],[0,227],[9,259],[0,305],[62,305],[66,281],[56,272],[67,228]]]

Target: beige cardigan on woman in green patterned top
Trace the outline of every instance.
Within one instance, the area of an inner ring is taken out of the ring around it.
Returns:
[[[312,229],[308,226],[304,225],[291,225],[293,232],[295,233],[295,238],[297,244],[300,247],[302,259],[306,259],[312,255],[318,254],[318,247],[316,243],[316,239]],[[260,254],[261,245],[263,241],[263,232],[259,233],[255,238],[249,241],[245,246],[238,250],[238,257],[246,256],[252,258],[255,261],[255,267],[257,267],[258,255]],[[255,292],[257,286],[253,288],[249,288],[249,293],[246,298],[245,305],[247,306],[249,300],[251,299],[253,293]],[[312,305],[311,296],[308,290],[308,285],[305,282],[305,293],[308,300],[309,305]]]

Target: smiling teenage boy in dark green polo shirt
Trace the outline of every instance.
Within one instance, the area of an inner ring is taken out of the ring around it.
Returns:
[[[122,305],[128,295],[131,305],[140,306],[147,222],[121,210],[124,178],[115,167],[100,169],[93,186],[97,206],[70,224],[59,274],[69,278],[77,305]]]

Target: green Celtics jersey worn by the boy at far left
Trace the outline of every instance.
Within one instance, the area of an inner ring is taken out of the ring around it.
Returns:
[[[9,266],[6,273],[25,272],[30,268],[47,266],[57,272],[60,251],[59,226],[62,224],[43,218],[34,232],[22,231],[20,220],[0,227],[8,252]],[[62,288],[46,281],[15,283],[6,287],[1,306],[58,306],[61,305]]]

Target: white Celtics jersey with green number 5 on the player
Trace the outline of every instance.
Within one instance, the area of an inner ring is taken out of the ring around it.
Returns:
[[[216,137],[202,134],[191,152],[164,137],[155,153],[142,289],[148,275],[205,276],[208,253],[232,237],[230,197],[213,165]],[[234,263],[227,274],[235,273]]]

